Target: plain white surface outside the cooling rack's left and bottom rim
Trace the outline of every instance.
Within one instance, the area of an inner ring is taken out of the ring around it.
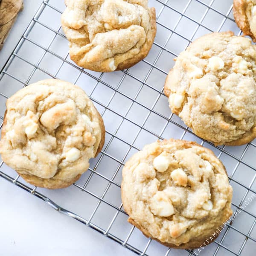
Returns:
[[[0,51],[0,69],[41,3],[41,0],[24,0],[24,9]],[[0,256],[108,256],[113,252],[134,255],[3,178],[0,178],[0,206]]]

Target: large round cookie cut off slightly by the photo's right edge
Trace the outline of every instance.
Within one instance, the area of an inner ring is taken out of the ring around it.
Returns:
[[[215,145],[256,137],[256,46],[233,32],[195,40],[176,59],[164,91],[172,112]]]

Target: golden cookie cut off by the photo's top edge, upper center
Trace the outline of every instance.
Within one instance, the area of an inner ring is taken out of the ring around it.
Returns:
[[[147,0],[65,0],[62,28],[70,58],[81,67],[110,72],[132,67],[148,55],[156,35]]]

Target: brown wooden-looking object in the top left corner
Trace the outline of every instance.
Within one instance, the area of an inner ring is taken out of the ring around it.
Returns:
[[[23,0],[0,0],[0,49],[23,7]]]

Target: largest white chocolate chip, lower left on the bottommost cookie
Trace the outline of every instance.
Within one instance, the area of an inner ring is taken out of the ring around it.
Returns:
[[[163,191],[158,191],[151,198],[150,208],[151,212],[154,215],[158,215],[161,217],[168,217],[175,213],[172,201],[167,197],[167,195]]]

